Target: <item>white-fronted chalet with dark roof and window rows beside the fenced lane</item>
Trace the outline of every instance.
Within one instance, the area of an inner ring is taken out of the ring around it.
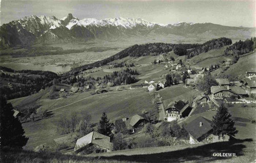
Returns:
[[[180,119],[182,117],[188,116],[192,108],[183,101],[178,101],[169,107],[166,110],[166,118],[168,122],[171,122],[176,119]]]

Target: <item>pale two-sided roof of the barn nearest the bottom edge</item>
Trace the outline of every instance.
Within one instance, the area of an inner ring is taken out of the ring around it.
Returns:
[[[89,145],[90,143],[110,150],[113,149],[113,143],[110,142],[110,137],[92,131],[76,141],[74,152],[83,151],[85,146]]]

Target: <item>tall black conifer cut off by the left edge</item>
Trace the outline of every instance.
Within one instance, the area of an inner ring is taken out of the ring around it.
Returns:
[[[22,149],[28,138],[24,136],[24,129],[18,119],[13,116],[12,104],[0,97],[0,147]]]

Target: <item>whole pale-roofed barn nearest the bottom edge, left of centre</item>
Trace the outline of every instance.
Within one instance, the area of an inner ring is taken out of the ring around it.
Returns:
[[[96,153],[109,152],[113,150],[113,143],[110,142],[110,137],[92,131],[76,141],[74,152],[79,153],[91,146],[95,147]]]

